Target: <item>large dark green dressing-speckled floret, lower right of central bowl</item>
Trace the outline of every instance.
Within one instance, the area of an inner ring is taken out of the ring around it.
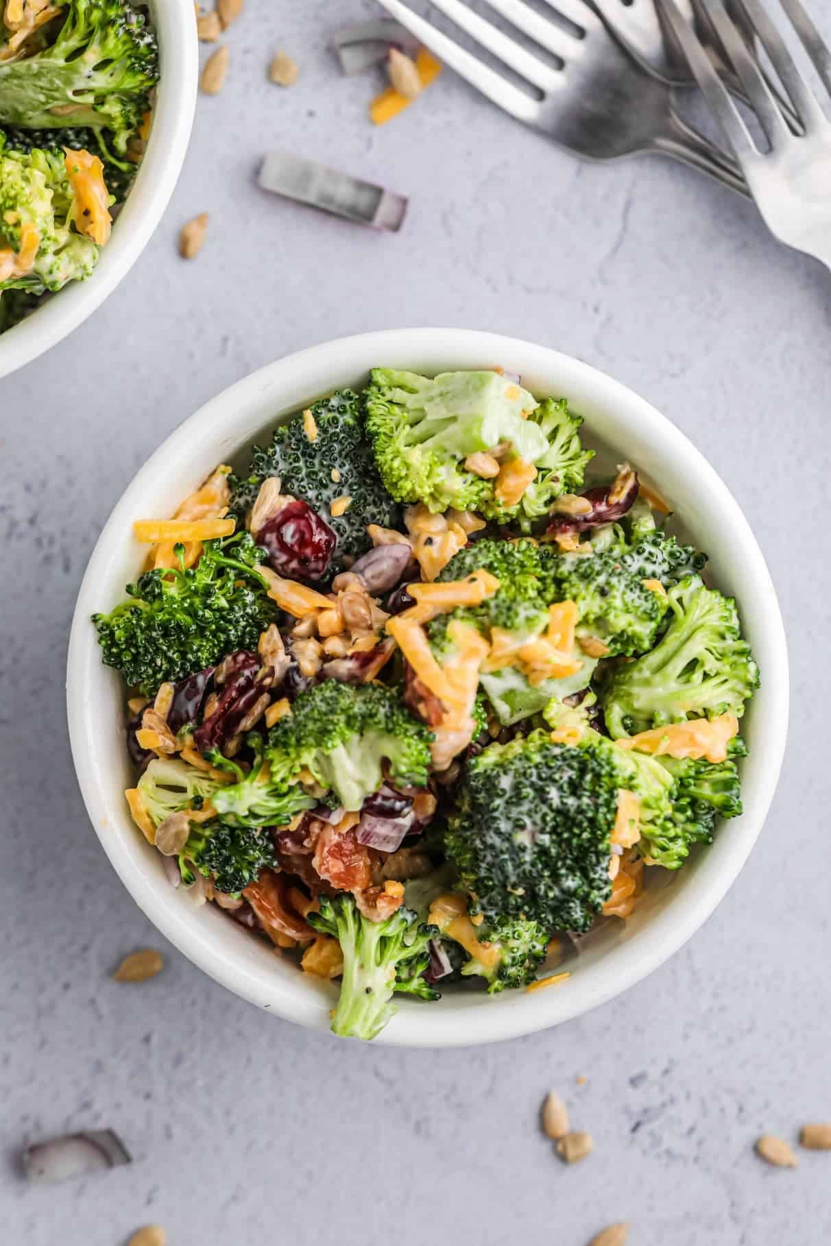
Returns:
[[[618,771],[532,731],[467,763],[445,846],[486,922],[586,931],[610,893]]]

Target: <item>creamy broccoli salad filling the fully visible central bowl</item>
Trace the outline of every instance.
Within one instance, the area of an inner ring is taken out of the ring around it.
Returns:
[[[566,400],[501,369],[374,369],[141,520],[93,617],[127,688],[132,817],[198,903],[397,994],[563,982],[741,812],[759,683],[735,602]]]

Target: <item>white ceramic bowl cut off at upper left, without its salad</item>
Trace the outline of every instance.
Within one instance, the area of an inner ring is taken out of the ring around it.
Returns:
[[[86,282],[71,282],[14,329],[0,334],[0,378],[66,338],[112,294],[150,242],[187,152],[199,77],[196,10],[191,0],[150,0],[161,76],[147,151],[112,237]]]

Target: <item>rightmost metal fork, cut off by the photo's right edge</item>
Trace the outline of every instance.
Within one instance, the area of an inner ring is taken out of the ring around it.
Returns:
[[[704,46],[674,0],[660,0],[699,86],[736,157],[767,228],[789,247],[814,255],[831,268],[831,122],[800,74],[791,54],[759,0],[741,0],[744,15],[794,105],[804,133],[787,128],[759,65],[730,20],[721,0],[709,14],[733,67],[741,78],[770,145],[761,152],[735,103],[713,69]],[[822,85],[831,93],[831,51],[802,7],[781,0]]]

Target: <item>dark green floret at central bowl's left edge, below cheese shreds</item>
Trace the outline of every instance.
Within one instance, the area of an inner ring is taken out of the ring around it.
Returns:
[[[148,571],[127,584],[130,601],[93,614],[103,663],[130,687],[153,697],[176,682],[216,665],[227,653],[255,649],[278,609],[257,571],[265,557],[249,532],[206,541],[196,567]]]

